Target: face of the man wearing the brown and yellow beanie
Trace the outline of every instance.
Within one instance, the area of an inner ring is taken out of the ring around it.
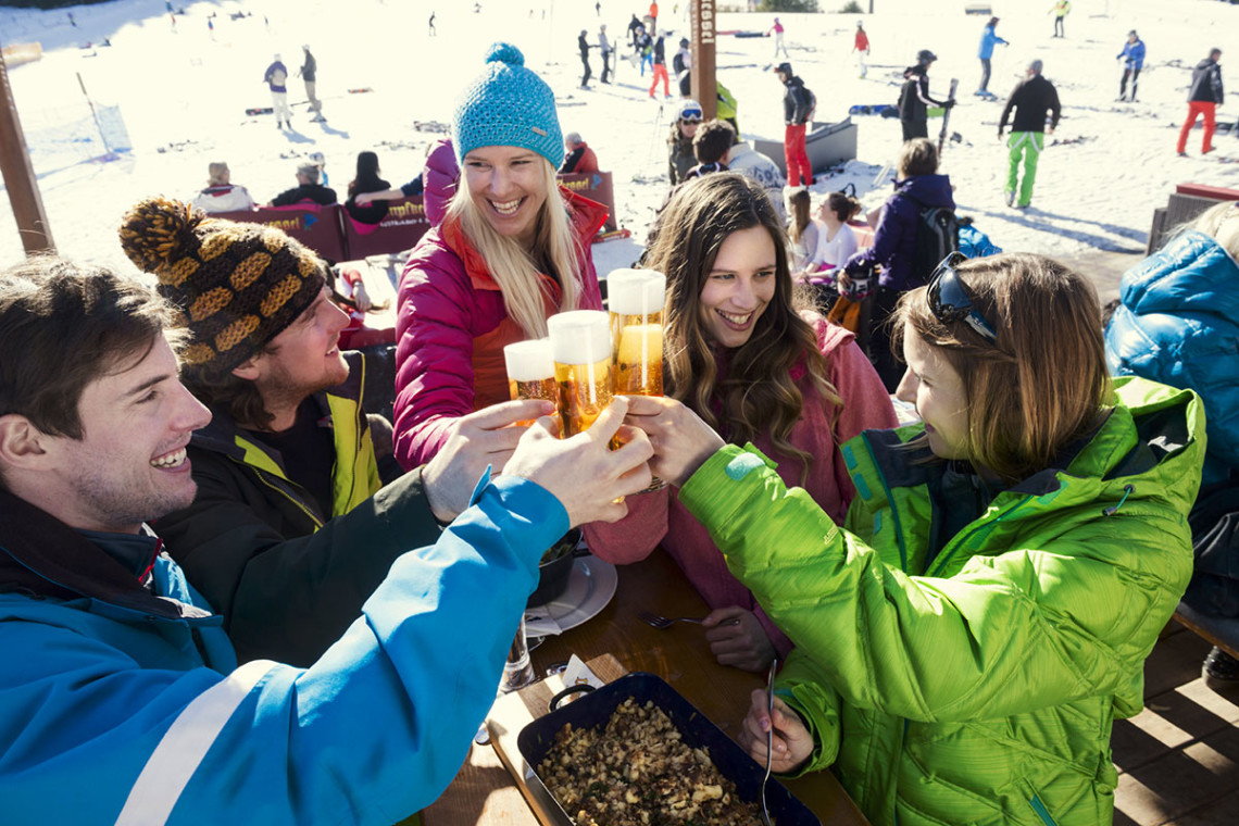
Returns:
[[[234,373],[254,381],[268,410],[292,405],[320,390],[342,384],[348,364],[339,352],[339,331],[348,326],[348,315],[331,300],[323,287],[313,303]]]

